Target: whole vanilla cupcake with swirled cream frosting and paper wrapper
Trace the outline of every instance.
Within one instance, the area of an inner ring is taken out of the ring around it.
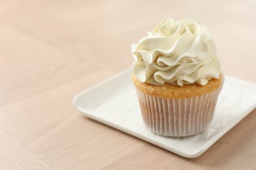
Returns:
[[[165,18],[131,48],[132,79],[146,127],[172,137],[207,129],[223,85],[207,26]]]

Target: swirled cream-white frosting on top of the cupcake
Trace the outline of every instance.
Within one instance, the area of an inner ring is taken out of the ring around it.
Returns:
[[[140,82],[203,86],[221,73],[209,29],[195,20],[165,18],[131,49],[133,73]]]

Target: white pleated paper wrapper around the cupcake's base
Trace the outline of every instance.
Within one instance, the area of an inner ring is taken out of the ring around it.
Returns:
[[[135,88],[146,127],[160,135],[184,137],[209,126],[222,86],[204,95],[182,99],[156,97]]]

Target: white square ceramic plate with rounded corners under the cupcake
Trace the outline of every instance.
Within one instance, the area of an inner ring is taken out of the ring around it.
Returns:
[[[225,76],[213,120],[207,130],[190,137],[163,137],[146,129],[128,69],[74,97],[85,116],[134,135],[186,158],[196,158],[256,107],[256,84]]]

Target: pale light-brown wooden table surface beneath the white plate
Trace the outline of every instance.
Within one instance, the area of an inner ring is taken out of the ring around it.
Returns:
[[[256,110],[188,159],[72,105],[165,17],[205,22],[223,73],[256,82],[256,1],[0,0],[0,14],[0,169],[256,169]]]

